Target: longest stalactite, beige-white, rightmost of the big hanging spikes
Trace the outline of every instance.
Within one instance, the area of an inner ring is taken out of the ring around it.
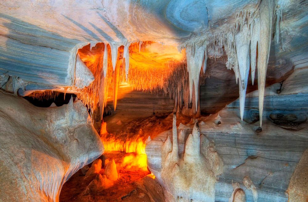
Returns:
[[[258,41],[258,91],[259,91],[259,116],[262,126],[265,79],[270,55],[270,42],[272,37],[272,24],[275,2],[263,0],[260,4],[260,39]]]

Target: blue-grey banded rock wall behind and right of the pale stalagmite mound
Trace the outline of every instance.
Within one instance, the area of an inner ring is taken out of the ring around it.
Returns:
[[[265,89],[265,119],[262,128],[258,125],[257,91],[246,97],[243,122],[240,121],[238,100],[217,114],[198,119],[200,133],[215,144],[216,152],[224,164],[222,174],[213,184],[215,197],[212,200],[229,201],[236,194],[234,190],[240,188],[245,193],[246,201],[286,202],[288,190],[290,200],[305,202],[304,198],[293,197],[296,197],[296,188],[301,187],[298,191],[302,194],[298,197],[305,197],[307,189],[305,178],[296,180],[305,175],[305,170],[300,169],[294,173],[297,165],[303,165],[298,162],[308,146],[307,75],[307,68],[295,68],[282,84],[277,83]],[[274,117],[276,119],[273,120]],[[275,122],[277,117],[282,117],[279,122]],[[177,128],[178,134],[189,134],[192,130],[192,124]],[[148,167],[158,179],[163,178],[163,141],[171,134],[171,130],[163,132],[146,146]],[[179,154],[184,149],[184,144],[182,149],[179,146]],[[305,161],[304,156],[302,162]],[[176,178],[176,175],[173,177]],[[166,182],[160,183],[164,185]],[[233,183],[238,183],[239,187],[234,188]]]

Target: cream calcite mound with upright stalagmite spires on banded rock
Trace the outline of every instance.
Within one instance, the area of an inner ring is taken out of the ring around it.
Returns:
[[[164,187],[165,200],[215,201],[216,176],[222,173],[223,162],[215,151],[213,142],[204,135],[200,136],[198,123],[195,123],[192,134],[186,134],[182,130],[179,132],[177,135],[174,115],[172,141],[167,136],[161,144],[161,169],[157,171],[149,167]],[[155,143],[147,142],[146,152],[150,163],[154,160],[151,146]]]

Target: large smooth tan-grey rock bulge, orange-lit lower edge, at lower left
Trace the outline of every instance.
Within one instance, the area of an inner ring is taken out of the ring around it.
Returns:
[[[0,201],[58,201],[63,183],[102,152],[81,101],[39,108],[0,92]]]

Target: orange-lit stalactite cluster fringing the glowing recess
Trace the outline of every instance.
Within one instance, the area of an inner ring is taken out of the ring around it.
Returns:
[[[95,79],[84,89],[79,90],[76,95],[84,104],[91,109],[93,121],[99,121],[102,118],[103,109],[107,104],[107,95],[109,86],[113,89],[114,109],[117,104],[118,85],[127,82],[133,89],[142,90],[147,93],[158,95],[169,95],[176,100],[176,104],[182,108],[183,104],[188,108],[189,103],[197,101],[198,105],[198,87],[204,82],[209,73],[206,68],[206,49],[203,49],[201,58],[204,74],[194,72],[193,82],[196,83],[194,99],[189,96],[190,84],[188,83],[189,71],[187,71],[186,60],[166,61],[164,68],[148,67],[139,68],[138,65],[130,65],[129,57],[133,51],[144,52],[146,46],[152,42],[127,42],[124,46],[117,43],[97,43],[95,46],[88,46],[79,49],[78,55],[86,66],[91,70]],[[116,56],[116,59],[114,59]],[[198,78],[197,78],[198,77]],[[200,77],[200,79],[199,79]],[[189,99],[190,98],[190,99]],[[99,110],[98,110],[99,109]],[[95,113],[99,111],[100,113]],[[93,117],[95,116],[95,117]]]

